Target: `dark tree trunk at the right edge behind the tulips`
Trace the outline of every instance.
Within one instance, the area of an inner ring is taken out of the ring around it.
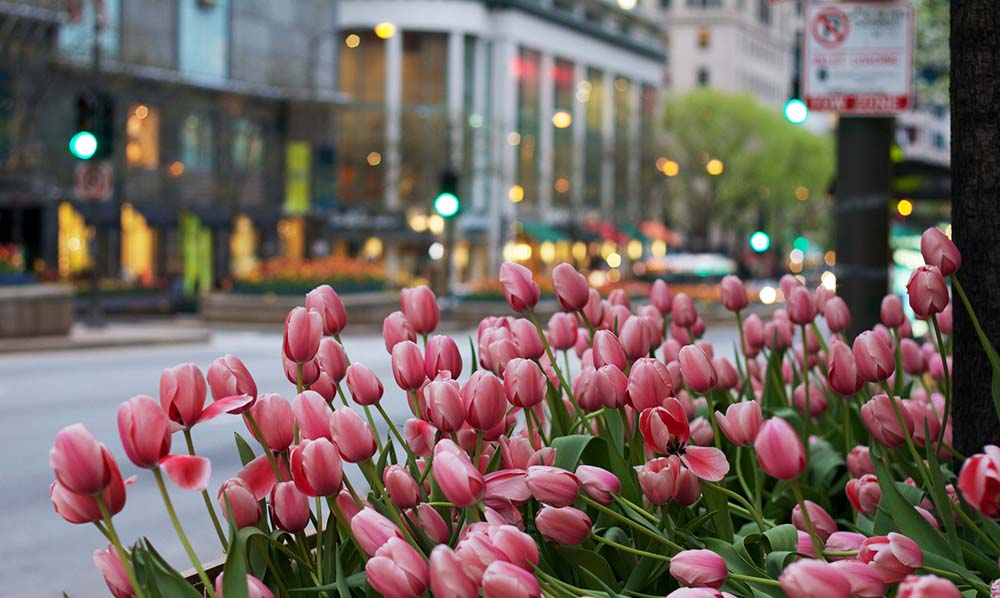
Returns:
[[[951,3],[951,219],[958,279],[1000,347],[1000,11],[996,0]],[[1000,444],[990,363],[954,305],[954,440],[966,454]]]

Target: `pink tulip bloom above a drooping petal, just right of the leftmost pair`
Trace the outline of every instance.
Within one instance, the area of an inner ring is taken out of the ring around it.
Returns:
[[[152,398],[139,395],[118,407],[118,435],[129,460],[152,469],[170,454],[170,420]]]

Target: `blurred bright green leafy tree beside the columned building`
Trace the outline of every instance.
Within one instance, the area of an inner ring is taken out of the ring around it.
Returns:
[[[785,226],[819,224],[833,175],[830,136],[790,124],[748,94],[712,89],[669,98],[665,125],[667,155],[680,163],[670,199],[675,215],[676,204],[686,208],[687,221],[677,224],[696,244],[708,241],[713,224],[736,232],[741,223],[756,226],[759,210],[781,214]],[[712,159],[723,163],[718,176],[706,171]],[[780,239],[784,231],[769,232]]]

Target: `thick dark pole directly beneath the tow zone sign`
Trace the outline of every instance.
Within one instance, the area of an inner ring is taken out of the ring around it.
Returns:
[[[895,119],[842,116],[837,126],[837,294],[851,306],[849,338],[879,322],[889,289],[889,199]]]

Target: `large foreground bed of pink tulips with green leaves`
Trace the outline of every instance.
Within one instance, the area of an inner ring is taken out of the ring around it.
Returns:
[[[786,309],[767,313],[726,277],[735,355],[663,281],[602,298],[561,264],[543,296],[506,263],[517,317],[468,342],[434,335],[429,288],[402,292],[383,326],[392,380],[351,363],[346,311],[319,287],[276,351],[292,386],[258,391],[235,355],[207,381],[167,369],[158,398],[117,413],[139,479],[74,424],[50,452],[50,499],[104,536],[94,561],[116,597],[996,596],[1000,448],[951,446],[944,278],[960,289],[961,256],[937,229],[921,248],[911,296],[885,299],[857,339],[828,289],[786,277]],[[561,311],[546,325],[543,307]],[[412,417],[391,421],[383,400]],[[243,467],[206,488],[197,424],[215,417],[246,425]],[[118,534],[132,483],[158,485],[190,563]],[[205,520],[180,521],[171,492],[201,492]],[[205,524],[214,564],[184,533]]]

